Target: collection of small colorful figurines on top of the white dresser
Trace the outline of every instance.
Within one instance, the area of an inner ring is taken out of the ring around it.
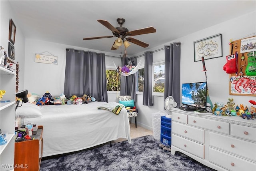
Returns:
[[[229,98],[227,104],[222,102],[215,102],[214,107],[212,108],[212,113],[214,115],[222,115],[222,116],[240,116],[243,119],[254,119],[256,118],[256,107],[251,106],[251,110],[249,111],[247,106],[243,104],[236,105],[233,102],[234,99]],[[249,100],[250,103],[256,105],[256,101]]]

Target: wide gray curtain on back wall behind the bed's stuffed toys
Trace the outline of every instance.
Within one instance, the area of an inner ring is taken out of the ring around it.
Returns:
[[[105,54],[66,48],[64,94],[87,94],[108,102]]]

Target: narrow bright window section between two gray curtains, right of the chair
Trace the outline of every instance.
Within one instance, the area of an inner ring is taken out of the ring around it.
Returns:
[[[154,87],[153,92],[164,92],[164,64],[154,65]]]

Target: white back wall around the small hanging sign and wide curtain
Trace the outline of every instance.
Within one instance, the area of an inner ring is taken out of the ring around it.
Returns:
[[[26,39],[25,50],[25,79],[24,87],[28,91],[43,95],[49,91],[53,96],[59,96],[64,91],[64,78],[66,67],[66,48],[88,51],[90,49],[45,42],[41,40]],[[90,50],[99,52],[97,50]],[[44,52],[44,53],[43,53]],[[54,55],[58,57],[58,65],[35,62],[35,54]],[[104,52],[103,52],[104,53]],[[105,55],[117,56],[116,54]],[[106,56],[106,64],[110,65],[113,61],[121,66],[121,60]]]

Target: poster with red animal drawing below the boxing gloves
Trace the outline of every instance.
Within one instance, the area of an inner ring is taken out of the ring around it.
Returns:
[[[256,95],[256,76],[231,76],[230,95]]]

